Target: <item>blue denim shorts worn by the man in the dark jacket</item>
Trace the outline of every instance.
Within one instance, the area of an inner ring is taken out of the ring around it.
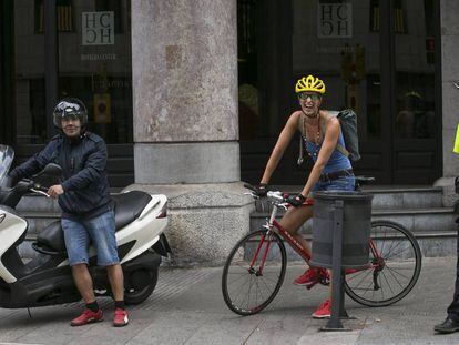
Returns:
[[[61,220],[70,266],[89,263],[90,241],[98,252],[98,265],[120,263],[113,211],[90,220]]]

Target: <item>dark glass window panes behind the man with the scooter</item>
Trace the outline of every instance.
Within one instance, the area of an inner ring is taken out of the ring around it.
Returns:
[[[49,139],[43,11],[43,0],[14,1],[19,144],[45,143]],[[130,11],[130,0],[57,1],[58,98],[81,99],[88,106],[89,129],[108,143],[133,141]]]

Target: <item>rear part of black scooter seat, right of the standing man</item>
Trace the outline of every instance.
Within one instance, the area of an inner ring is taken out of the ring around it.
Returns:
[[[143,209],[152,200],[149,193],[131,191],[113,194],[116,231],[124,227],[140,216]]]

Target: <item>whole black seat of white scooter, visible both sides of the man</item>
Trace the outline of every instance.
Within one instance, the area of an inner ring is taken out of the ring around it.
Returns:
[[[112,197],[114,201],[116,231],[137,219],[152,200],[150,194],[141,191],[114,194]],[[55,221],[41,231],[37,236],[37,242],[40,247],[45,247],[57,253],[64,253],[65,242],[61,222]]]

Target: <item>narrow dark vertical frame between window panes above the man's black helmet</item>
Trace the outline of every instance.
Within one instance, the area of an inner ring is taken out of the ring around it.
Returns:
[[[48,139],[55,133],[52,111],[58,101],[58,24],[55,0],[43,1],[44,12],[44,91]]]

